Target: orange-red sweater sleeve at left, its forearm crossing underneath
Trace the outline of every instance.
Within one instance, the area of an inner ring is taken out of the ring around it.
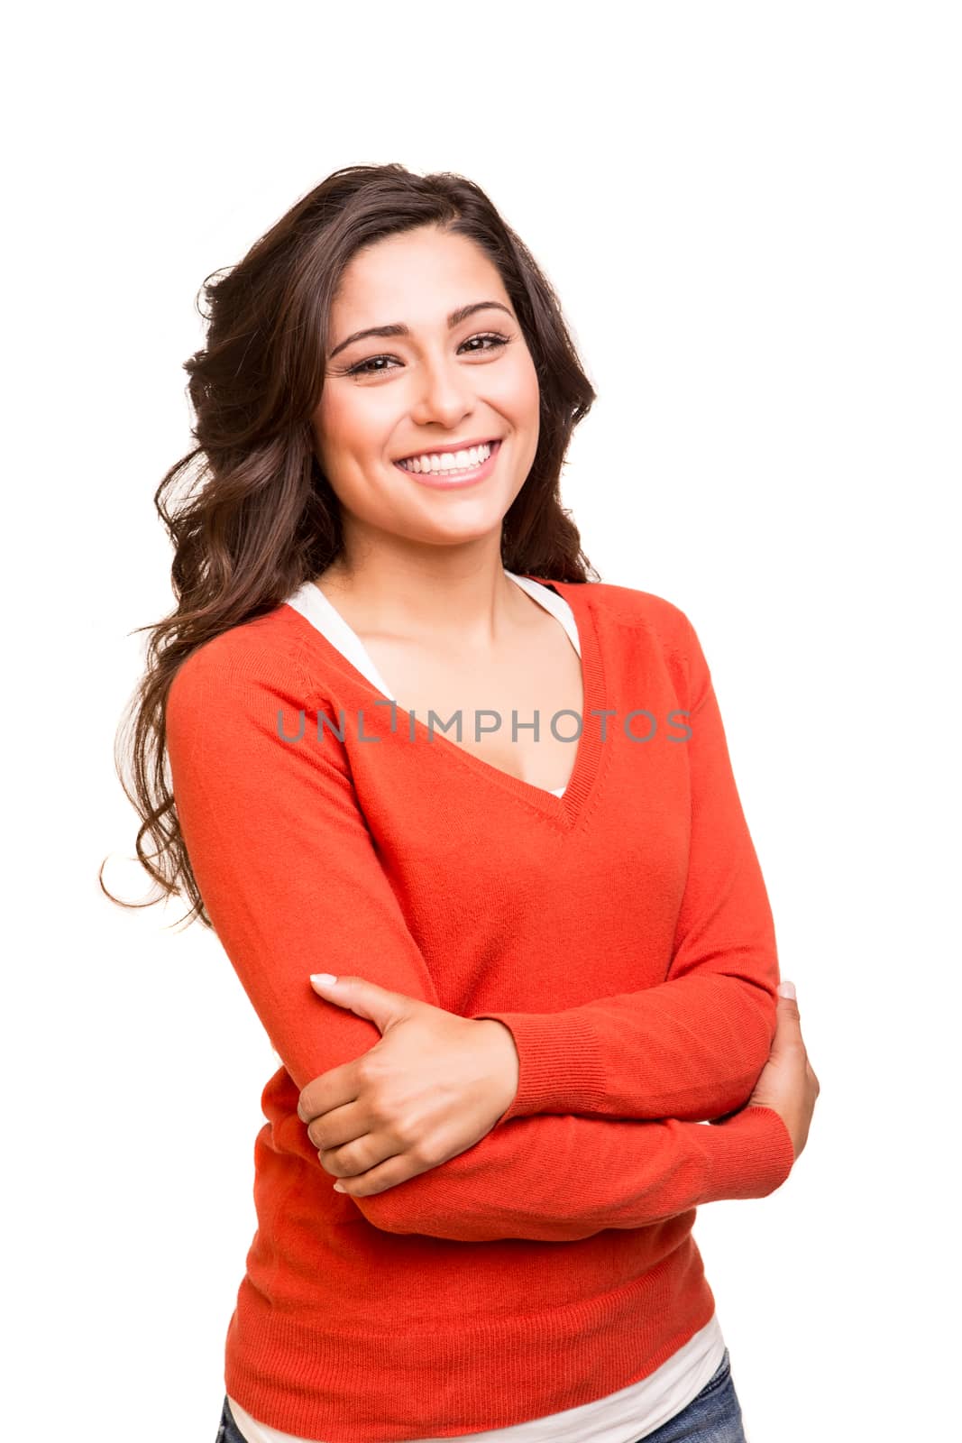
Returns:
[[[250,654],[238,662],[226,633],[182,664],[166,709],[177,820],[200,895],[299,1089],[381,1038],[374,1023],[317,997],[310,973],[356,973],[440,1006],[346,760],[280,737],[281,719],[291,734],[301,709],[310,729],[306,693],[294,662],[281,668],[277,657]],[[792,1163],[787,1128],[764,1107],[715,1127],[531,1117],[353,1201],[388,1232],[567,1241],[721,1198],[766,1196]]]

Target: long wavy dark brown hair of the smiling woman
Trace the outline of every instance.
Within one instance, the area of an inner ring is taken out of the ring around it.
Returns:
[[[557,582],[599,579],[560,499],[568,442],[594,390],[550,281],[472,180],[449,172],[418,176],[401,165],[335,170],[239,264],[200,287],[206,345],[185,361],[196,446],[154,494],[173,541],[177,605],[153,626],[134,629],[150,632],[146,671],[115,746],[121,785],[143,818],[137,859],[160,895],[140,903],[112,896],[101,863],[101,889],[120,906],[151,906],[183,892],[192,902],[186,921],[211,926],[170,789],[167,693],[192,651],[273,610],[342,554],[339,502],[310,427],[325,382],[330,306],[361,247],[423,225],[469,237],[493,261],[537,368],[538,452],[505,517],[502,563]],[[187,485],[170,505],[167,494],[180,481]],[[150,856],[144,837],[156,846]]]

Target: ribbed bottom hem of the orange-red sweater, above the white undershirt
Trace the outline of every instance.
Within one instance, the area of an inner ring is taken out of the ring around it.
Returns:
[[[688,1212],[659,1224],[671,1247]],[[649,1229],[643,1229],[648,1232]],[[545,1250],[545,1267],[550,1267]],[[558,1258],[564,1267],[564,1258]],[[650,1271],[570,1307],[438,1330],[307,1325],[245,1277],[228,1329],[225,1391],[271,1427],[325,1443],[397,1443],[511,1427],[575,1408],[646,1378],[710,1320],[715,1300],[691,1232]]]

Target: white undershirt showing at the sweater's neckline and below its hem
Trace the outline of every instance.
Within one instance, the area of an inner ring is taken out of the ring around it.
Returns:
[[[558,618],[580,657],[581,641],[568,603],[557,592],[550,592],[541,582],[532,582],[526,576],[516,576],[508,570],[505,576],[509,576],[528,596]],[[314,586],[313,582],[304,582],[287,597],[287,603],[317,631],[323,632],[327,641],[385,698],[397,700],[391,696],[391,688],[385,685],[358,633],[327,600],[320,587]],[[545,791],[550,789],[545,788]],[[564,791],[564,786],[558,786],[554,789],[554,795],[561,797]],[[629,1384],[627,1388],[620,1388],[604,1398],[594,1398],[578,1408],[567,1408],[564,1413],[552,1413],[550,1417],[529,1418],[526,1423],[516,1423],[508,1429],[463,1433],[460,1437],[467,1439],[469,1443],[635,1443],[636,1439],[653,1433],[688,1407],[718,1369],[724,1351],[725,1341],[718,1315],[712,1313],[704,1328],[640,1382]],[[229,1395],[228,1404],[247,1443],[317,1443],[314,1439],[301,1439],[294,1433],[281,1433],[280,1429],[273,1429],[267,1423],[258,1423]],[[405,1443],[453,1443],[453,1440],[408,1439]]]

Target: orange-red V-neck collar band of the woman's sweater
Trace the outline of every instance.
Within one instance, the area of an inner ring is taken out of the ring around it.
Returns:
[[[525,782],[519,776],[513,776],[511,772],[502,771],[502,768],[495,766],[492,762],[483,760],[475,752],[469,752],[466,747],[460,746],[457,742],[451,742],[450,737],[444,736],[443,732],[431,730],[428,732],[427,723],[421,722],[420,717],[414,717],[415,734],[425,734],[430,737],[431,746],[441,746],[447,755],[457,760],[462,766],[466,766],[475,773],[480,781],[489,782],[493,786],[499,786],[509,795],[515,797],[519,802],[534,807],[545,818],[554,821],[562,830],[573,830],[581,817],[584,805],[591,794],[594,785],[599,762],[601,756],[601,734],[600,724],[596,716],[604,707],[604,668],[601,661],[601,648],[597,635],[597,625],[594,618],[594,609],[590,605],[587,596],[590,583],[588,582],[554,582],[547,580],[541,576],[531,576],[526,571],[516,573],[518,576],[525,576],[528,580],[539,582],[542,586],[548,586],[558,593],[571,608],[574,616],[574,625],[578,633],[578,644],[581,649],[581,691],[583,691],[583,709],[581,709],[581,734],[577,742],[571,742],[575,747],[574,766],[568,778],[567,786],[561,797],[555,797],[554,792],[547,791],[544,786],[535,786],[534,782]],[[306,583],[317,592],[323,602],[327,603],[330,612],[335,618],[346,628],[346,633],[356,636],[352,628],[348,626],[345,619],[340,616],[333,603],[320,592],[320,587],[314,586],[313,582]],[[290,606],[288,602],[283,605]],[[326,608],[326,609],[327,609]],[[304,616],[297,608],[290,606],[294,615],[300,616],[303,622],[310,628],[310,633],[316,638],[322,646],[327,648],[329,652],[337,659],[342,670],[348,671],[350,677],[359,687],[372,693],[378,700],[385,700],[391,696],[387,685],[384,690],[375,685],[369,677],[355,667],[355,664],[345,657],[342,651],[330,641],[329,636],[313,622],[310,618]],[[333,618],[332,618],[333,619]],[[376,670],[375,670],[376,671]],[[381,678],[384,683],[384,678]],[[407,710],[398,703],[398,710],[408,716]],[[567,714],[565,714],[567,717]],[[560,723],[560,730],[567,733],[568,724],[565,724],[565,717]],[[567,722],[573,722],[567,717]]]

